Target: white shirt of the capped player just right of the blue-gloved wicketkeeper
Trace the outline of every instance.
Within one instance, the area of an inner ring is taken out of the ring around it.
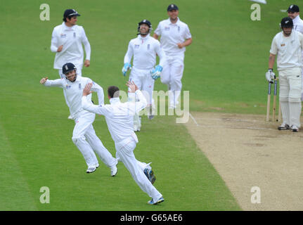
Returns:
[[[182,49],[179,49],[177,44],[191,38],[191,32],[189,31],[188,25],[181,22],[179,18],[176,23],[172,23],[169,18],[167,20],[162,20],[157,26],[155,34],[161,36],[161,46],[165,51],[166,56],[169,57],[183,55],[186,48],[183,47]]]

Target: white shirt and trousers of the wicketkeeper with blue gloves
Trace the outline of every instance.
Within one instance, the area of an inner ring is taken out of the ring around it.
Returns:
[[[127,53],[124,56],[124,63],[131,63],[134,56],[133,66],[129,75],[129,80],[134,81],[138,89],[143,91],[148,104],[153,101],[153,88],[155,80],[150,75],[150,70],[156,64],[156,56],[160,57],[159,65],[165,65],[165,53],[160,46],[160,42],[148,34],[146,37],[138,35],[129,41]]]

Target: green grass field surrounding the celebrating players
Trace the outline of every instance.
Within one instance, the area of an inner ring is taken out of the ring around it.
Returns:
[[[121,68],[137,23],[146,18],[153,28],[167,18],[171,1],[49,1],[51,20],[41,21],[41,1],[1,4],[0,46],[0,210],[241,210],[224,181],[174,116],[143,117],[135,155],[153,162],[155,187],[165,202],[150,199],[135,184],[122,162],[118,174],[101,164],[86,174],[86,164],[72,143],[74,122],[61,89],[46,89],[39,79],[57,79],[49,47],[53,27],[63,11],[82,16],[91,44],[91,67],[82,74],[101,84],[125,89]],[[177,0],[179,17],[190,27],[183,90],[190,91],[190,109],[224,113],[265,114],[266,81],[271,39],[290,4],[262,5],[262,20],[250,20],[252,1]],[[126,89],[125,89],[126,90]],[[155,90],[165,90],[160,80]],[[108,100],[105,99],[108,103]],[[94,122],[96,134],[115,155],[104,117]],[[50,203],[39,201],[40,188],[50,189]]]

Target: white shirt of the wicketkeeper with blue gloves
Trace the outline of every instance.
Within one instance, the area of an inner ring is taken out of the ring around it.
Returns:
[[[165,52],[160,46],[160,42],[150,35],[142,37],[138,35],[129,41],[127,53],[124,56],[124,63],[131,63],[134,56],[133,66],[141,70],[150,70],[155,66],[156,56],[160,57],[159,65],[165,65]]]

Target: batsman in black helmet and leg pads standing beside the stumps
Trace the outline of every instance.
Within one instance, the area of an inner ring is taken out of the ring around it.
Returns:
[[[303,34],[293,30],[292,19],[281,20],[282,32],[276,34],[271,43],[269,70],[266,72],[268,82],[276,78],[273,65],[277,56],[277,68],[280,81],[280,103],[283,123],[279,130],[299,131],[301,114],[301,74]]]

